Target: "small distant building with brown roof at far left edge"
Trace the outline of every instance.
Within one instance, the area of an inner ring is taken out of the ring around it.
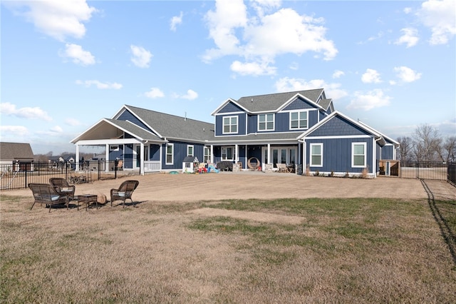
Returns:
[[[31,171],[33,151],[30,143],[4,143],[0,142],[1,171],[5,166],[10,166],[11,171]]]

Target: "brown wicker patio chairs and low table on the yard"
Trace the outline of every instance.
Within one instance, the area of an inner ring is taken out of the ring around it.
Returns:
[[[129,180],[121,183],[118,188],[111,189],[111,206],[113,206],[113,201],[122,201],[123,208],[125,208],[125,200],[128,199],[135,206],[132,195],[133,191],[138,188],[138,185],[139,181]],[[46,207],[49,207],[49,212],[51,212],[52,206],[60,204],[65,204],[66,208],[69,209],[70,201],[77,201],[78,210],[81,204],[85,204],[87,211],[90,204],[93,203],[95,203],[98,209],[98,196],[96,194],[85,193],[75,196],[76,186],[69,185],[65,178],[50,178],[49,183],[29,183],[28,188],[32,191],[34,198],[30,210],[35,203],[40,203],[41,205],[44,203]]]

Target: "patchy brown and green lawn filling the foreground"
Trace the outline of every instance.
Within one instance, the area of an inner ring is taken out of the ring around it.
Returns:
[[[29,211],[30,198],[0,198],[1,303],[456,302],[454,252],[425,200],[145,201],[48,213]],[[454,238],[456,202],[435,206]]]

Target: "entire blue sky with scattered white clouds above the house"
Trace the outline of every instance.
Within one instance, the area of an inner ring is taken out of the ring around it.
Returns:
[[[213,122],[324,88],[391,138],[456,134],[456,1],[1,0],[1,141],[69,143],[124,104]],[[88,148],[90,152],[90,148]],[[96,152],[96,151],[94,151]]]

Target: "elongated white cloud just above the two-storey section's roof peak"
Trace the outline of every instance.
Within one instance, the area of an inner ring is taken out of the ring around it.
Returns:
[[[341,83],[326,83],[322,79],[314,79],[306,81],[300,78],[280,78],[275,83],[276,90],[279,92],[289,91],[304,91],[312,90],[314,88],[324,88],[326,97],[332,98],[333,100],[341,99],[348,95],[346,91],[341,89]]]

